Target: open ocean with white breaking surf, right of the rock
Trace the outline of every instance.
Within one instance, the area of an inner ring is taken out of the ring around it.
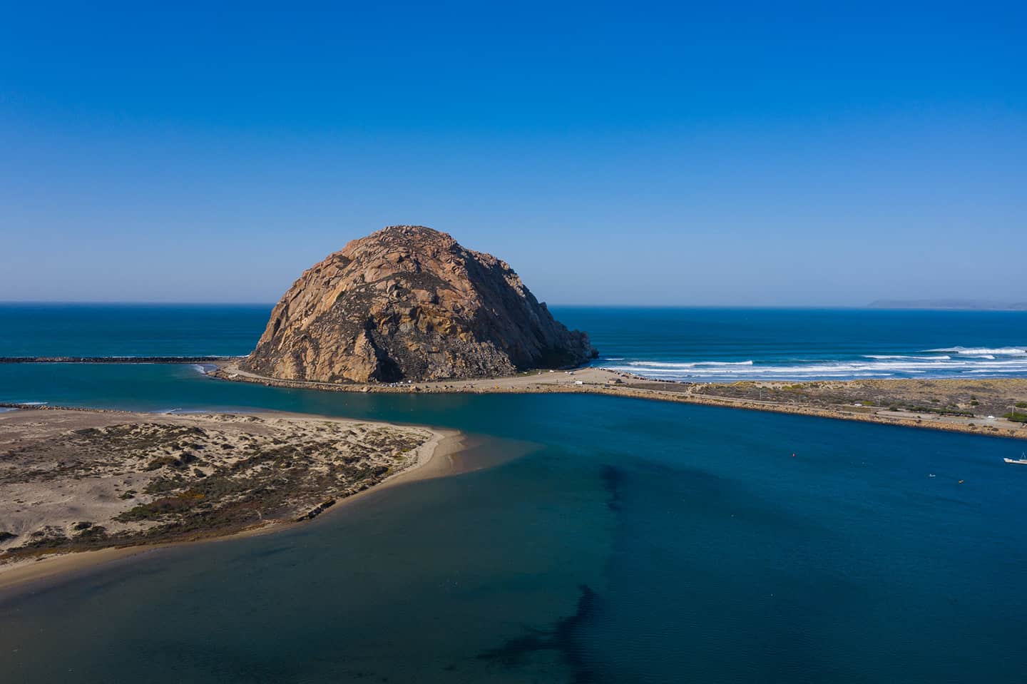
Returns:
[[[1027,377],[1027,311],[554,308],[597,366],[667,380]]]

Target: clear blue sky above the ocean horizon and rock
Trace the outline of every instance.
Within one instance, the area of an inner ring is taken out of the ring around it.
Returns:
[[[21,4],[0,300],[271,302],[396,223],[557,304],[1027,299],[1023,3]]]

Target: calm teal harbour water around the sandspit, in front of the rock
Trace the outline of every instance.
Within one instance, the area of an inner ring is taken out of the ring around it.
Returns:
[[[188,365],[0,366],[0,402],[23,401],[447,426],[480,468],[0,593],[4,682],[1027,672],[1027,467],[1002,462],[1023,442],[607,396],[292,390]]]

